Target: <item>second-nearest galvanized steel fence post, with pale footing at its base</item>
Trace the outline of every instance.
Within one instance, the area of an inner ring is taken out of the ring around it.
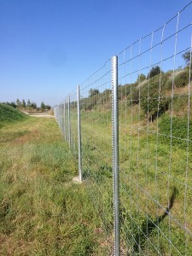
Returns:
[[[82,181],[82,161],[81,161],[81,119],[80,119],[80,89],[78,85],[77,94],[78,107],[78,155],[79,155],[79,180]]]

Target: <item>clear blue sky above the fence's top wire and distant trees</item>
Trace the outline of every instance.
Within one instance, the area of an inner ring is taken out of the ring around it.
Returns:
[[[0,102],[54,106],[189,2],[0,0]]]

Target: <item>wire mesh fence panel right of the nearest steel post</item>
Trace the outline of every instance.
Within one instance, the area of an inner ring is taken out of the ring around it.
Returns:
[[[130,255],[192,253],[191,62],[183,66],[191,10],[119,53],[121,237]]]

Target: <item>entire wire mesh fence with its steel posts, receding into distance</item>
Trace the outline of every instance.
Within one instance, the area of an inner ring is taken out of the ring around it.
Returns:
[[[191,11],[189,3],[55,106],[106,255],[192,255]]]

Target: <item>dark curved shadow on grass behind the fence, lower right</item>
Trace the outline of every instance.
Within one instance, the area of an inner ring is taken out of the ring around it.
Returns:
[[[133,253],[139,253],[141,249],[145,246],[145,241],[148,239],[148,236],[153,232],[153,230],[157,229],[159,224],[166,218],[166,216],[171,211],[174,201],[177,196],[177,188],[174,187],[172,190],[172,195],[170,198],[169,206],[166,207],[166,211],[159,217],[155,218],[154,220],[151,220],[150,218],[143,222],[140,231],[135,236],[135,244],[133,245]],[[127,254],[128,256],[129,254]]]

